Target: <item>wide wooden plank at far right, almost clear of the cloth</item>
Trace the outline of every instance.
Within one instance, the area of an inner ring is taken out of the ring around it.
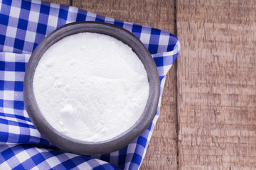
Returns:
[[[179,169],[256,169],[255,1],[177,1]]]

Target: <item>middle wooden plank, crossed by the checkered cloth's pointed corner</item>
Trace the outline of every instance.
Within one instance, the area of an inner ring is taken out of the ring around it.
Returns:
[[[175,32],[175,2],[140,0],[73,0],[73,6],[102,16]],[[176,169],[176,65],[166,77],[161,115],[141,169]]]

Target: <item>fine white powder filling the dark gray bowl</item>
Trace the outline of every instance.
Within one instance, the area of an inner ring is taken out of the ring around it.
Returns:
[[[52,45],[33,78],[48,123],[82,141],[110,140],[137,122],[149,96],[144,65],[108,35],[79,33]]]

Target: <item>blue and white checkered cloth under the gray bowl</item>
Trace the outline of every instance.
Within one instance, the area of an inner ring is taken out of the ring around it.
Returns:
[[[163,30],[38,0],[0,0],[0,9],[0,169],[139,169],[159,118],[161,96],[153,122],[127,147],[102,155],[70,154],[51,145],[28,118],[22,94],[26,64],[38,43],[66,23],[113,23],[134,33],[154,57],[162,94],[166,73],[178,55],[178,38]]]

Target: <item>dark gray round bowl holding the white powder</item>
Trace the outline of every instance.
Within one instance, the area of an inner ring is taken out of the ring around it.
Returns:
[[[149,98],[147,100],[146,107],[144,108],[144,112],[137,123],[132,126],[132,128],[111,140],[105,140],[102,142],[85,142],[63,135],[55,130],[43,117],[33,94],[33,76],[43,53],[46,52],[46,50],[58,40],[65,38],[68,35],[81,32],[110,35],[129,45],[129,47],[132,47],[132,50],[137,54],[139,59],[144,64],[146,73],[148,75]],[[132,140],[141,135],[142,132],[149,127],[156,113],[156,108],[159,102],[159,91],[159,74],[156,69],[156,64],[154,63],[154,60],[152,59],[148,50],[146,50],[146,47],[144,47],[142,42],[137,37],[124,28],[114,26],[109,23],[77,22],[67,24],[58,28],[57,30],[54,30],[53,33],[50,33],[36,47],[36,50],[34,50],[32,53],[26,68],[23,86],[23,98],[26,111],[28,112],[29,118],[31,118],[33,125],[35,125],[43,137],[46,137],[46,139],[53,143],[53,145],[63,149],[64,151],[73,152],[76,154],[105,154],[122,149],[122,147],[128,145],[129,142],[132,142]]]

